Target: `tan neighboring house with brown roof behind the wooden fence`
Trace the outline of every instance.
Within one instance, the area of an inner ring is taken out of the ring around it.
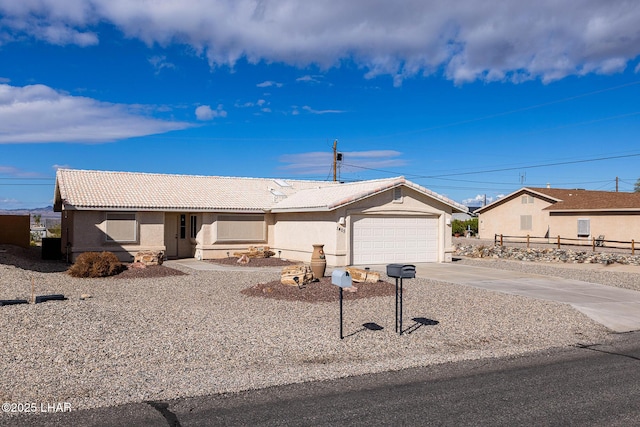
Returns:
[[[479,236],[640,241],[640,193],[524,187],[476,211]]]

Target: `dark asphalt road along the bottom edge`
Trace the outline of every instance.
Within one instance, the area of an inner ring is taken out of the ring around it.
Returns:
[[[17,423],[16,423],[17,421]],[[9,419],[82,426],[640,425],[640,332],[611,343]]]

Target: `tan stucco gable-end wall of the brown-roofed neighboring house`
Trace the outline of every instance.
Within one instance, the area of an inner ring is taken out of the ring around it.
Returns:
[[[549,213],[543,211],[550,203],[534,197],[533,203],[523,204],[520,196],[505,201],[478,216],[478,236],[493,239],[496,234],[504,236],[543,237],[549,225]],[[531,215],[531,230],[520,229],[520,216]]]

